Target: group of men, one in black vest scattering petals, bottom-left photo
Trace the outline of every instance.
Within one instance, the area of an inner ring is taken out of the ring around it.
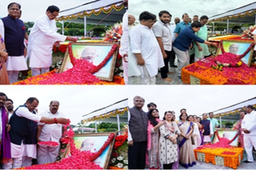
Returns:
[[[55,162],[59,146],[39,145],[39,141],[59,143],[64,124],[69,120],[58,111],[59,102],[52,101],[50,108],[38,114],[36,107],[39,101],[29,98],[24,105],[13,110],[12,100],[0,92],[0,141],[1,162],[3,169],[30,166],[32,159],[38,164]],[[13,163],[12,163],[13,162]]]

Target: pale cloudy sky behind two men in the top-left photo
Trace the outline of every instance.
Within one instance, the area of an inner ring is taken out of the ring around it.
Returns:
[[[46,12],[50,5],[55,5],[61,10],[70,9],[92,0],[2,0],[0,5],[0,17],[8,15],[7,6],[16,2],[22,6],[22,19],[24,22],[35,21],[38,16]]]

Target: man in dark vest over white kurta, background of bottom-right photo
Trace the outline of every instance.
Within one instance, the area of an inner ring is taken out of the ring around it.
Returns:
[[[214,134],[214,130],[212,129],[212,125],[210,120],[207,119],[207,114],[203,114],[203,119],[200,122],[201,125],[204,127],[204,133],[203,133],[203,141],[204,144],[211,142],[211,136]]]

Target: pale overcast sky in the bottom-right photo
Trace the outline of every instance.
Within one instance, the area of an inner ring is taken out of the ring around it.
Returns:
[[[187,110],[188,115],[216,111],[254,98],[256,91],[255,86],[239,85],[130,86],[129,107],[133,107],[135,95],[145,99],[143,110],[146,112],[146,105],[155,103],[162,118],[165,111],[172,110],[179,116],[183,108]]]

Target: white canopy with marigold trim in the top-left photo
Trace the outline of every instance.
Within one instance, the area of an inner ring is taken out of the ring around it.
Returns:
[[[62,34],[64,34],[64,21],[84,23],[84,33],[86,33],[87,23],[97,24],[105,18],[100,23],[101,25],[113,25],[122,21],[124,13],[123,0],[92,0],[89,3],[60,11],[56,21],[62,22]]]

